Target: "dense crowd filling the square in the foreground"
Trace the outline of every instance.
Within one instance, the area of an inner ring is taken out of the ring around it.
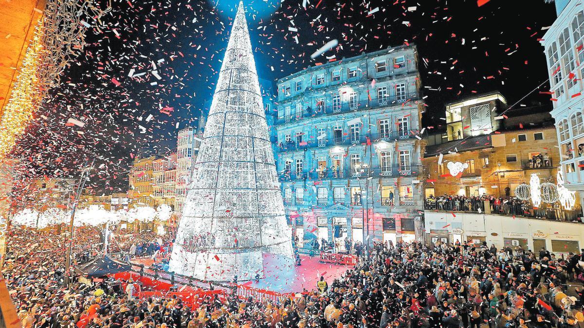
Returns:
[[[125,244],[132,247],[131,240]],[[54,233],[9,232],[4,276],[24,327],[565,328],[584,323],[584,293],[580,287],[568,292],[566,285],[584,280],[579,266],[584,254],[564,259],[544,249],[534,253],[485,243],[380,243],[341,278],[321,280],[302,295],[270,303],[228,292],[193,310],[176,296],[137,299],[131,288],[113,288],[109,280],[62,287],[65,245]],[[96,245],[99,235],[83,229],[74,252]]]

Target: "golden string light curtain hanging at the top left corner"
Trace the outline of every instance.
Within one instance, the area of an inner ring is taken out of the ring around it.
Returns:
[[[60,83],[60,75],[84,47],[89,27],[99,30],[105,11],[93,0],[48,0],[34,29],[11,96],[0,118],[0,159],[12,150],[41,106],[47,91]],[[84,19],[91,19],[91,24]]]

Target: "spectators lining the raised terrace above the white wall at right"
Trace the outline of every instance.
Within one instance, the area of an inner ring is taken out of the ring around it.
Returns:
[[[541,203],[539,207],[533,207],[527,200],[517,197],[494,196],[461,196],[444,195],[434,197],[430,195],[425,201],[425,210],[438,211],[465,211],[485,212],[485,205],[493,214],[516,215],[519,217],[551,219],[559,221],[580,221],[581,208],[564,210],[558,202],[554,204]]]

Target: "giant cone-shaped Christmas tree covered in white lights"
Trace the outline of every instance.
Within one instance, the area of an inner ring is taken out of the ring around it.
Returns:
[[[171,271],[210,281],[263,277],[263,254],[292,260],[243,3],[208,114]]]

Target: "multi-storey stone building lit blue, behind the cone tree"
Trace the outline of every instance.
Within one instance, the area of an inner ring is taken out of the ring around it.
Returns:
[[[421,88],[413,45],[277,81],[276,165],[287,215],[305,247],[314,238],[337,251],[346,238],[414,238],[423,208]]]

